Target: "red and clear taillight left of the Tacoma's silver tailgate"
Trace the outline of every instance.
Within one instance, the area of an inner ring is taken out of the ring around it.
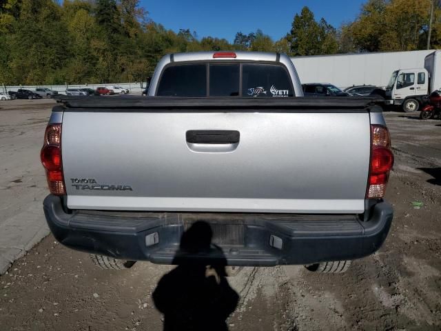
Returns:
[[[44,134],[41,163],[46,170],[49,190],[52,194],[65,194],[61,163],[61,123],[49,124]]]

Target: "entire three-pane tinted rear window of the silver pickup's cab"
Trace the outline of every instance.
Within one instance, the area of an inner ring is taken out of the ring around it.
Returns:
[[[208,83],[207,77],[209,77]],[[294,90],[284,66],[239,62],[189,63],[166,67],[159,79],[156,95],[167,97],[294,97]]]

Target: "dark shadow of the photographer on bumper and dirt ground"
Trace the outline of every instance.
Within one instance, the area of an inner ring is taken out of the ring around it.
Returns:
[[[164,314],[164,330],[228,330],[226,319],[236,309],[239,296],[226,279],[227,259],[212,244],[212,228],[194,223],[181,237],[173,263],[153,292],[156,308]],[[216,259],[197,261],[192,254],[218,250]]]

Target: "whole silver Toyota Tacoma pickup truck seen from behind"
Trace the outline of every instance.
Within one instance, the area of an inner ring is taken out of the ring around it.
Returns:
[[[393,154],[376,99],[303,97],[288,57],[254,52],[167,55],[148,94],[52,110],[43,206],[64,245],[102,268],[342,272],[384,242]]]

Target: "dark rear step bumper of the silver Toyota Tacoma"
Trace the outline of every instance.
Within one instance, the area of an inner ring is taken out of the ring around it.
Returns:
[[[178,212],[66,213],[59,197],[43,202],[54,237],[64,245],[117,259],[175,264],[213,260],[227,265],[308,264],[366,257],[387,237],[393,210],[377,203],[368,221],[354,215],[207,214]],[[209,249],[183,252],[179,243],[195,221],[214,236]]]

